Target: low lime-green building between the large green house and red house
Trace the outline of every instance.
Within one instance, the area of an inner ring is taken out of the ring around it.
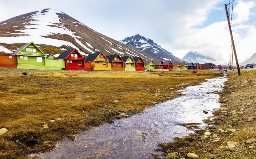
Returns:
[[[64,70],[65,60],[56,59],[53,54],[48,54],[45,59],[45,70]]]

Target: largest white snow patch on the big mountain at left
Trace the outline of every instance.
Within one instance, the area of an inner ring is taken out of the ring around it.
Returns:
[[[25,29],[17,30],[23,33],[16,33],[16,34],[28,34],[29,36],[1,37],[0,43],[13,44],[13,43],[29,43],[33,41],[34,43],[37,43],[37,44],[53,45],[56,47],[66,45],[73,48],[78,48],[71,42],[42,37],[42,36],[53,35],[52,33],[59,33],[59,34],[67,34],[72,36],[77,43],[79,43],[82,47],[85,47],[79,40],[76,39],[77,36],[74,35],[75,33],[66,29],[66,27],[64,27],[64,25],[59,21],[60,18],[56,13],[62,14],[61,11],[54,10],[54,9],[49,9],[45,13],[41,13],[41,11],[42,10],[39,10],[34,14],[32,14],[31,16],[29,16],[31,20],[36,20],[36,21],[30,21],[29,23],[27,23],[32,25],[27,25],[25,26],[26,27]],[[54,23],[58,23],[58,24],[54,24]],[[58,27],[50,27],[47,25],[55,25]],[[31,29],[31,28],[36,28],[36,29]],[[85,47],[85,49],[88,51],[90,50],[87,47]],[[81,52],[79,49],[78,51],[81,54],[87,55]],[[89,52],[94,53],[92,50]]]

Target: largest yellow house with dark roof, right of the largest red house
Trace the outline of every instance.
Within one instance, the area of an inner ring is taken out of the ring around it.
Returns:
[[[91,70],[111,71],[111,63],[103,52],[89,54],[85,61],[91,62]]]

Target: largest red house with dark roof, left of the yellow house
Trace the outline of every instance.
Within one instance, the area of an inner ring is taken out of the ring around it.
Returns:
[[[57,59],[65,60],[65,70],[79,71],[85,69],[85,58],[76,49],[62,52]]]

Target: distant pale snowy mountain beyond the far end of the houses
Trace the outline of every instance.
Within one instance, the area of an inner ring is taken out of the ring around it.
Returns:
[[[199,62],[200,64],[202,63],[219,64],[219,62],[217,62],[214,58],[193,50],[188,52],[182,59],[187,62]]]

